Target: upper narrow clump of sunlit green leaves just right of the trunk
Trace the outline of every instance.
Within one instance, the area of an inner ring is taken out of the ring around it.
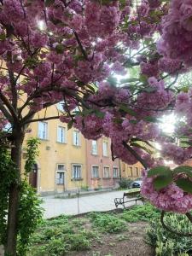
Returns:
[[[38,156],[38,144],[40,144],[38,138],[31,137],[26,141],[26,173],[32,172],[32,167],[36,163],[36,157]]]

